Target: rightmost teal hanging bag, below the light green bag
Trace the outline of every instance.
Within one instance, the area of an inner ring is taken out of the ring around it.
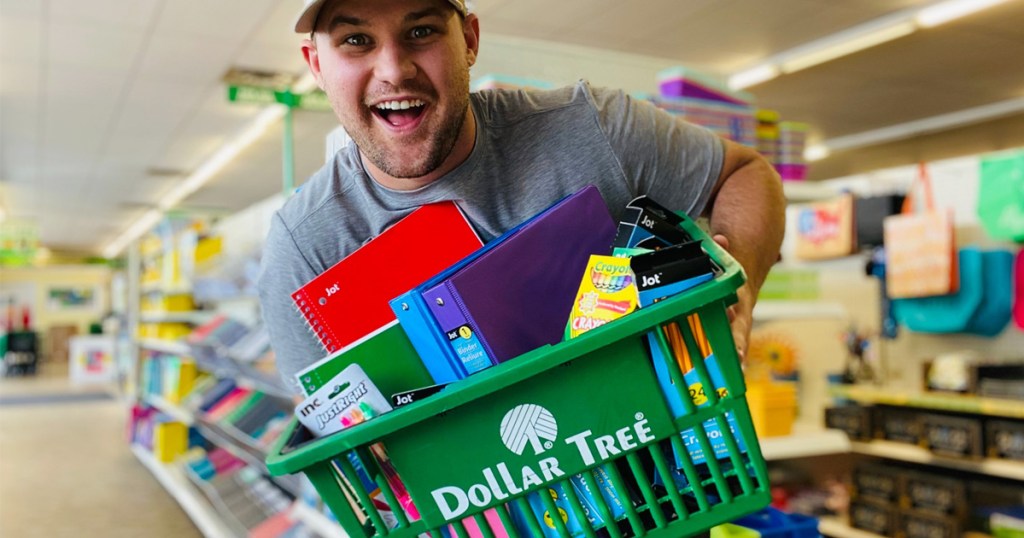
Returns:
[[[1008,250],[981,253],[981,288],[984,298],[967,325],[967,332],[995,336],[1007,328],[1013,309],[1014,255]]]

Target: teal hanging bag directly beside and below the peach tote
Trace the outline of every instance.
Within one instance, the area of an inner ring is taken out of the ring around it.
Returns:
[[[956,293],[933,297],[893,300],[896,319],[916,332],[965,332],[985,296],[981,250],[959,251],[959,289]]]

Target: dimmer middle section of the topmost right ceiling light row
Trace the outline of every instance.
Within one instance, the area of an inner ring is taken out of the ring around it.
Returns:
[[[841,32],[833,38],[814,41],[805,47],[795,49],[782,59],[782,73],[794,73],[818,64],[824,64],[906,36],[915,30],[911,20],[870,26],[874,28],[855,27],[851,31]]]

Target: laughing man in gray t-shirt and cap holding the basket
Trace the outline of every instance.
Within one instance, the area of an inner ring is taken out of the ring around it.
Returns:
[[[259,282],[287,382],[325,355],[290,294],[420,205],[455,200],[485,240],[594,183],[612,215],[647,194],[710,218],[744,267],[732,324],[745,348],[757,290],[778,256],[783,198],[751,149],[620,91],[470,94],[480,26],[464,0],[317,0],[295,27],[353,144],[271,224]]]

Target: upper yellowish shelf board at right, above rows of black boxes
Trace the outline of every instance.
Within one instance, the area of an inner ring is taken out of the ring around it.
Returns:
[[[831,385],[828,387],[828,392],[834,398],[843,398],[861,404],[882,404],[996,417],[1024,418],[1024,402],[1020,400],[1000,400],[953,394],[910,392],[864,385]]]

